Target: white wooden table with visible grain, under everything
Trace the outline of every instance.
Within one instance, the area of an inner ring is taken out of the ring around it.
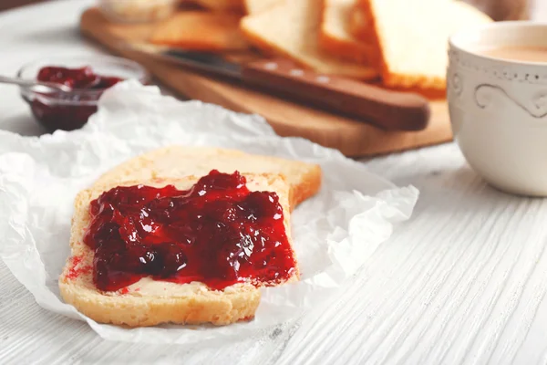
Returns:
[[[77,33],[91,3],[0,14],[0,72],[100,52]],[[0,128],[42,132],[17,89],[2,85]],[[320,317],[227,348],[108,342],[39,308],[0,263],[0,364],[547,364],[547,201],[494,191],[453,144],[366,164],[421,197],[411,221]]]

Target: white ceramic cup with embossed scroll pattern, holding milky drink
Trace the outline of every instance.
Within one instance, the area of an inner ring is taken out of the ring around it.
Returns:
[[[492,23],[450,38],[452,130],[485,181],[508,193],[547,196],[547,63],[480,55],[515,46],[547,49],[547,24]]]

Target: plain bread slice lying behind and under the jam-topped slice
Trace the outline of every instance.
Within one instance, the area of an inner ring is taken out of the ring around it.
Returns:
[[[95,186],[159,176],[202,176],[212,170],[232,173],[280,173],[291,186],[291,208],[315,195],[321,186],[318,165],[212,147],[170,146],[123,162],[98,178]]]

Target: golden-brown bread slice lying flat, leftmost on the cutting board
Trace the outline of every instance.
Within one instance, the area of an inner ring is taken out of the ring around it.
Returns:
[[[231,13],[181,11],[154,28],[150,43],[198,51],[245,50],[240,18]]]

